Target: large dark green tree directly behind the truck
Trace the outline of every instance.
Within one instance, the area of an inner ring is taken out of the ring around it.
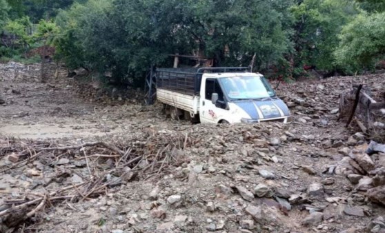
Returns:
[[[90,0],[58,15],[65,33],[57,48],[72,65],[109,70],[121,81],[141,77],[150,65],[167,65],[168,54],[194,50],[216,65],[249,65],[257,54],[259,70],[292,48],[291,3]]]

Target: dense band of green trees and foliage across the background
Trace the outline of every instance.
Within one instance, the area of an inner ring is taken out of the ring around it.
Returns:
[[[384,59],[384,0],[0,0],[0,55],[54,45],[69,68],[142,79],[170,54],[273,77],[350,74]],[[55,22],[55,23],[54,23]]]

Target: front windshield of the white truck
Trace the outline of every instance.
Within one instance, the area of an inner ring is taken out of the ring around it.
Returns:
[[[219,79],[230,99],[263,99],[275,97],[275,91],[264,77],[227,77]]]

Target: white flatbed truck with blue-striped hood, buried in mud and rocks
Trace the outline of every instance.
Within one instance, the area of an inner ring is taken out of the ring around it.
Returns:
[[[157,101],[173,119],[201,123],[288,122],[287,105],[250,68],[158,68]]]

